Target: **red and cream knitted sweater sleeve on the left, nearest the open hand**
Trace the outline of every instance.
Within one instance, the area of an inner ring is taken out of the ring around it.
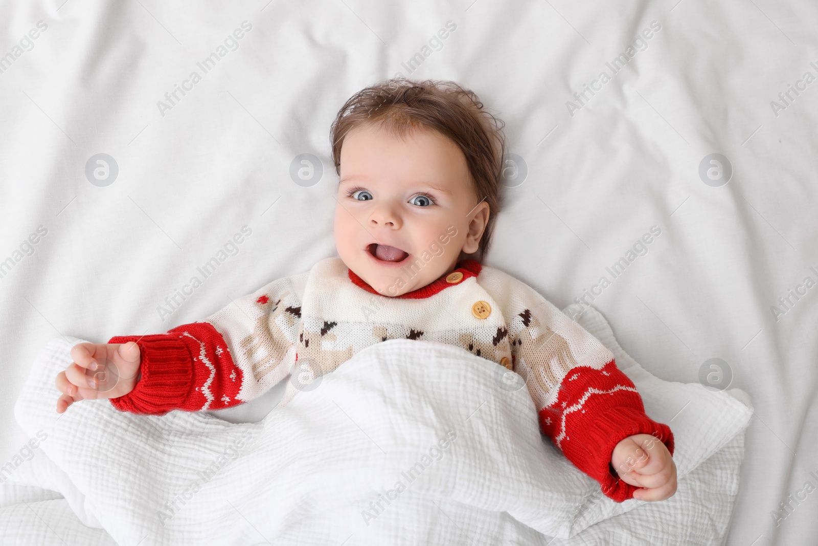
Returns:
[[[306,276],[270,282],[203,322],[111,337],[108,343],[139,345],[140,378],[110,403],[119,411],[164,415],[230,408],[262,395],[290,373]]]

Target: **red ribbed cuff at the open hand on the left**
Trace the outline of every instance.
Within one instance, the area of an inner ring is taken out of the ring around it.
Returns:
[[[111,398],[121,412],[164,415],[179,408],[191,390],[193,359],[179,336],[114,336],[108,343],[136,341],[142,377],[127,395]]]

